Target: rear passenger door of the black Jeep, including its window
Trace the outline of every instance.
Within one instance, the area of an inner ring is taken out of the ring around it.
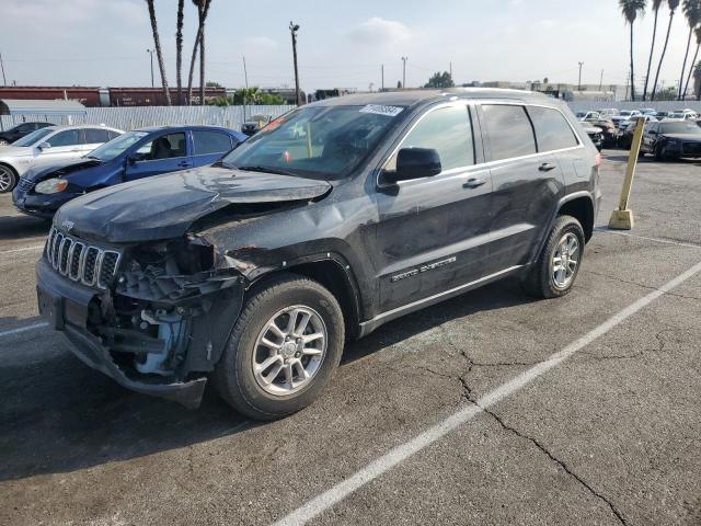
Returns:
[[[525,105],[484,103],[481,121],[494,185],[489,262],[491,272],[498,272],[530,262],[562,193],[563,176],[554,151],[539,151]]]

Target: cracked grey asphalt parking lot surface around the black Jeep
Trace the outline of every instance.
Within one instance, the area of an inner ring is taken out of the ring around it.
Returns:
[[[0,524],[701,524],[701,164],[641,162],[631,206],[570,296],[504,282],[400,319],[254,424],[74,358],[37,317],[47,227],[0,196]]]

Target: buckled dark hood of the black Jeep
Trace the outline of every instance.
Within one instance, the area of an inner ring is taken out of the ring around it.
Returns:
[[[204,167],[118,184],[70,201],[54,217],[62,230],[111,243],[175,238],[214,211],[237,204],[309,201],[325,181]]]

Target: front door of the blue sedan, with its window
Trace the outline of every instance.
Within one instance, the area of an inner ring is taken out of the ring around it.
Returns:
[[[184,132],[164,134],[142,145],[129,156],[125,181],[192,168]]]

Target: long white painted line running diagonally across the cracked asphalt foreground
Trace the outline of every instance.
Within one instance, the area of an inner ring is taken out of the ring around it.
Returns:
[[[456,413],[451,414],[443,422],[434,425],[433,427],[426,430],[418,436],[412,438],[411,441],[397,446],[391,449],[386,455],[379,457],[378,459],[370,462],[368,466],[357,471],[355,474],[348,477],[344,481],[334,485],[330,490],[314,496],[307,503],[304,503],[301,507],[298,507],[289,515],[283,517],[280,521],[275,523],[276,526],[287,526],[287,525],[301,525],[307,523],[308,521],[317,517],[324,511],[331,508],[350,493],[355,492],[366,483],[377,479],[381,474],[386,473],[397,465],[412,457],[413,455],[420,453],[425,447],[432,445],[436,441],[439,441],[445,435],[459,427],[460,425],[469,422],[475,415],[480,414],[483,409],[487,409],[489,407],[499,402],[501,400],[514,395],[515,392],[522,389],[525,386],[533,381],[539,376],[549,371],[550,369],[556,367],[562,362],[574,355],[577,351],[584,348],[589,343],[602,336],[611,329],[616,328],[628,318],[645,308],[653,301],[655,301],[660,296],[670,291],[671,289],[678,287],[687,279],[696,276],[701,272],[701,263],[697,263],[691,268],[689,268],[683,274],[675,277],[667,284],[659,287],[657,290],[650,293],[647,296],[639,299],[634,304],[625,307],[623,310],[612,316],[608,320],[606,320],[600,325],[587,332],[584,336],[578,340],[572,342],[570,345],[564,347],[562,351],[551,355],[544,362],[539,363],[538,365],[531,367],[530,369],[521,373],[514,379],[503,384],[497,387],[493,391],[490,391],[482,398],[476,401],[474,405],[468,405]]]

